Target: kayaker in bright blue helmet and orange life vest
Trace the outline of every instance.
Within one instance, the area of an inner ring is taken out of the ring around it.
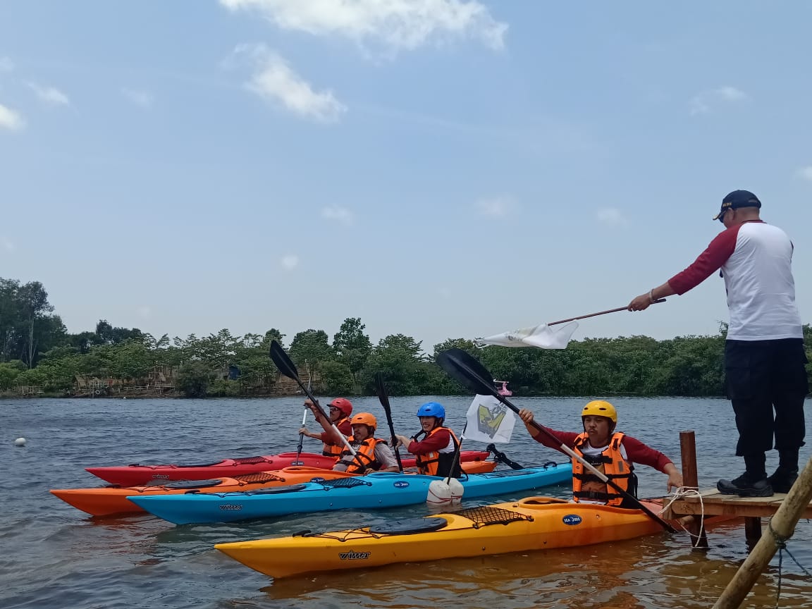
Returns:
[[[398,445],[417,458],[417,471],[430,476],[462,477],[460,460],[455,459],[460,440],[443,423],[446,409],[438,402],[427,402],[417,408],[421,430],[411,438],[395,435]],[[422,438],[421,438],[422,436]],[[421,439],[418,439],[421,438]]]

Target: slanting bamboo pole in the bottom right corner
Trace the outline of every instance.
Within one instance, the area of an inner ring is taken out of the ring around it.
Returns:
[[[741,564],[728,587],[716,601],[713,609],[737,609],[741,607],[758,577],[775,555],[780,542],[785,542],[795,533],[795,525],[812,499],[812,457],[806,468],[798,476],[793,488],[781,503],[775,516],[770,519],[771,531],[758,540],[745,562]]]

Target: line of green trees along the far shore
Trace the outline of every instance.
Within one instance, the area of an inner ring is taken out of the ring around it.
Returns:
[[[469,339],[447,339],[425,351],[403,334],[373,344],[359,317],[348,317],[330,336],[302,330],[287,344],[314,388],[328,395],[374,395],[374,375],[387,378],[392,395],[456,395],[467,391],[436,365],[439,352],[462,348],[517,395],[723,396],[723,352],[727,326],[712,336],[656,340],[647,336],[573,340],[563,350],[477,348]],[[804,326],[812,360],[812,327]],[[137,328],[100,320],[95,330],[67,332],[39,282],[0,278],[0,391],[41,387],[69,394],[76,378],[142,382],[155,369],[172,373],[180,395],[256,395],[279,377],[268,356],[276,328],[264,334],[155,338]],[[812,384],[812,365],[807,366]]]

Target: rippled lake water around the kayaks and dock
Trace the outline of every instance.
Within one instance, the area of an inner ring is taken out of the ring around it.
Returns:
[[[393,398],[395,431],[418,430],[414,413],[430,398]],[[462,428],[470,398],[439,398],[447,423]],[[680,464],[680,430],[695,430],[699,484],[741,473],[733,456],[736,432],[726,400],[659,398],[612,400],[619,429]],[[375,398],[353,400],[355,412],[373,412]],[[582,399],[522,399],[537,420],[577,430]],[[711,548],[692,551],[685,533],[628,542],[474,559],[451,559],[377,569],[315,574],[274,581],[214,550],[214,543],[265,538],[301,529],[332,530],[425,516],[413,506],[395,512],[322,512],[237,524],[175,526],[152,516],[97,519],[48,493],[52,488],[101,486],[91,465],[206,463],[226,457],[296,450],[300,398],[266,400],[0,400],[0,458],[6,492],[0,499],[0,607],[711,607],[745,559],[742,524],[709,533]],[[812,403],[807,400],[810,458]],[[313,428],[313,421],[310,421]],[[379,434],[383,435],[383,433]],[[14,446],[23,436],[25,447]],[[304,439],[305,450],[320,443]],[[470,443],[469,448],[482,448]],[[500,445],[521,464],[566,457],[529,438],[516,425]],[[768,468],[775,466],[775,451]],[[801,465],[802,466],[802,465]],[[640,495],[659,496],[665,476],[637,469]],[[536,495],[568,497],[565,487]],[[526,495],[526,494],[525,494]],[[499,500],[518,499],[502,496]],[[470,502],[469,505],[493,503]],[[801,520],[788,549],[812,572],[812,524]],[[775,607],[778,555],[748,597],[746,607]],[[780,607],[812,607],[812,581],[784,555]]]

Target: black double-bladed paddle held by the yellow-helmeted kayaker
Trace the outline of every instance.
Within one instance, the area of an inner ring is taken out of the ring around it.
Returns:
[[[510,408],[513,412],[516,412],[516,414],[519,413],[519,408],[516,408],[516,406],[510,403],[508,398],[506,398],[504,395],[500,395],[499,391],[496,391],[492,380],[493,376],[490,375],[485,366],[477,361],[468,352],[464,352],[462,349],[457,348],[448,349],[448,351],[444,351],[437,356],[437,363],[440,365],[440,368],[445,370],[451,378],[454,378],[464,387],[467,387],[469,391],[482,395],[493,395],[497,400],[502,402],[502,404]],[[611,481],[611,479],[605,474],[598,471],[598,469],[595,469],[594,465],[590,464],[582,456],[577,454],[576,451],[573,451],[572,448],[562,443],[559,438],[556,438],[554,434],[551,434],[544,427],[542,427],[542,425],[538,425],[536,421],[533,421],[531,425],[533,425],[533,428],[540,431],[542,434],[545,434],[547,438],[550,438],[553,442],[558,443],[560,451],[566,453],[567,455],[571,456],[572,459],[575,459],[581,463],[590,471],[590,473],[598,477],[601,482],[607,486],[611,486],[614,490],[620,493],[620,495],[623,495],[624,498],[637,504],[637,508],[645,512],[646,516],[649,516],[651,520],[654,520],[657,524],[662,526],[663,529],[666,529],[669,533],[676,533],[676,529],[669,525],[665,520],[657,516],[649,508],[646,508],[645,505],[640,503],[640,500],[637,499],[637,497],[620,488],[620,486]]]

